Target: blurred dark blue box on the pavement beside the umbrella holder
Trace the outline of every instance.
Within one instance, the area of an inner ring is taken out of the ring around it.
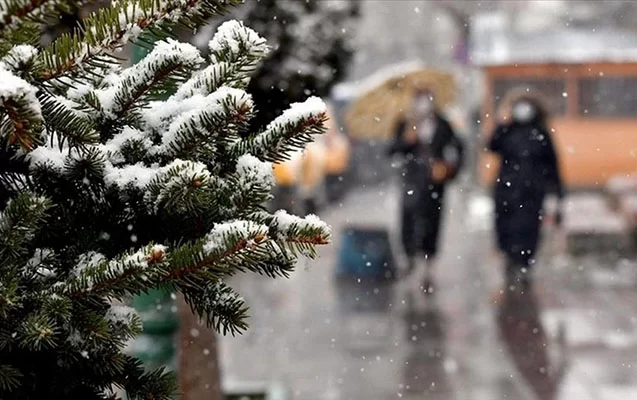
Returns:
[[[341,236],[337,275],[391,279],[395,263],[386,229],[348,227]]]

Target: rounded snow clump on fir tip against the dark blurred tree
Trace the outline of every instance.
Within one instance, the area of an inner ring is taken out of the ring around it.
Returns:
[[[219,54],[227,56],[230,52],[231,59],[236,59],[241,53],[246,56],[262,57],[268,53],[266,40],[258,33],[243,25],[237,20],[226,21],[217,28],[217,33],[208,43],[214,61],[221,61]]]

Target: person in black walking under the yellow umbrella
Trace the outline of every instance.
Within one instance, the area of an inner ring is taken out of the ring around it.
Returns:
[[[405,277],[417,270],[416,288],[432,293],[445,186],[460,169],[463,143],[437,110],[433,91],[417,90],[410,114],[398,123],[389,153],[404,160],[401,236],[408,260]]]

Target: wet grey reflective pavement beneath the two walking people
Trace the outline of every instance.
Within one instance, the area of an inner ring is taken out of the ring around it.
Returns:
[[[421,307],[399,285],[337,279],[340,232],[395,230],[397,190],[323,212],[334,244],[291,279],[232,282],[252,318],[221,340],[225,382],[281,382],[303,400],[637,398],[637,266],[558,255],[549,235],[533,290],[505,290],[479,193],[450,191],[437,290]]]

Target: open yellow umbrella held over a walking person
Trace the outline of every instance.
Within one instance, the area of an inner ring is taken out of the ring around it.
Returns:
[[[345,126],[352,137],[387,139],[394,134],[400,119],[411,109],[414,91],[433,91],[436,105],[443,109],[455,98],[450,73],[420,69],[387,79],[354,101],[345,113]]]

